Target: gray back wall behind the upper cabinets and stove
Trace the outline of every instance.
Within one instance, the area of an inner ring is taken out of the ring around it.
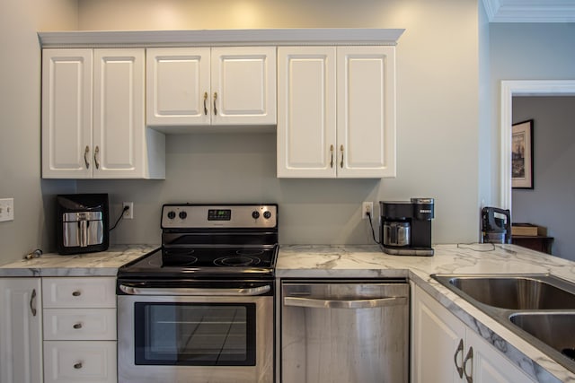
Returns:
[[[397,178],[278,179],[275,134],[173,135],[167,139],[164,181],[78,182],[79,191],[110,192],[113,214],[122,200],[135,202],[136,218],[122,222],[113,241],[159,240],[162,203],[271,201],[279,204],[282,243],[371,243],[361,202],[411,196],[436,197],[436,243],[478,238],[476,1],[79,4],[80,28],[86,30],[406,29],[397,46]]]

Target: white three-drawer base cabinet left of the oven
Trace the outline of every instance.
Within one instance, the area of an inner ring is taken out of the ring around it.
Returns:
[[[45,383],[117,381],[116,280],[42,278]]]

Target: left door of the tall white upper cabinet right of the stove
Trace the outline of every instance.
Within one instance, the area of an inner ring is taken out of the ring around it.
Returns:
[[[278,177],[336,176],[335,48],[278,48]]]

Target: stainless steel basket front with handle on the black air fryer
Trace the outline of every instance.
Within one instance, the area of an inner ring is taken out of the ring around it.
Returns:
[[[102,212],[64,213],[62,235],[66,248],[100,245],[104,239]]]

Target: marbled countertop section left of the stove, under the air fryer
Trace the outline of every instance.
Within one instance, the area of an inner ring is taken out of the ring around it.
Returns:
[[[116,276],[118,268],[159,248],[159,245],[116,245],[98,253],[60,256],[44,254],[0,265],[5,276]]]

